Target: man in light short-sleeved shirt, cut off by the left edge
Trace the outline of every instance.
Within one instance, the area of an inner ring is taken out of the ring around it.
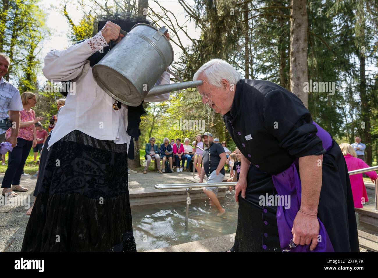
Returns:
[[[0,53],[0,143],[5,139],[6,130],[15,123],[11,137],[6,140],[15,147],[20,127],[20,110],[23,110],[23,106],[19,90],[3,78],[8,72],[10,62],[6,54]]]

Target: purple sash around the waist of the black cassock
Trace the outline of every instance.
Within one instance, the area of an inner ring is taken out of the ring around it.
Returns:
[[[323,141],[323,148],[327,151],[332,146],[332,138],[324,129],[313,121],[317,127],[316,135]],[[279,196],[290,196],[290,208],[285,208],[283,204],[277,207],[277,227],[281,248],[287,248],[293,238],[291,228],[293,228],[294,218],[301,207],[301,180],[293,162],[285,171],[272,175],[274,187]],[[313,252],[334,252],[332,243],[327,231],[319,217],[319,237],[318,245]],[[310,245],[297,245],[291,252],[310,252]]]

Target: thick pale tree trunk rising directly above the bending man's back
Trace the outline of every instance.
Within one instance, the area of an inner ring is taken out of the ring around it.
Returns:
[[[290,9],[290,90],[308,107],[308,93],[303,92],[307,77],[306,0],[291,0]]]

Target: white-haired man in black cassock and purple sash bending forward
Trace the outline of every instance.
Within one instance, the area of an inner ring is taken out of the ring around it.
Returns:
[[[203,103],[223,115],[242,152],[231,252],[358,252],[344,157],[302,101],[272,82],[241,79],[220,59],[193,80],[203,80]]]

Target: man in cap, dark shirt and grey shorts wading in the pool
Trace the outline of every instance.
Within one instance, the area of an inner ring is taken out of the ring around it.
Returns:
[[[202,138],[205,149],[203,151],[200,182],[203,182],[205,174],[208,177],[208,183],[223,182],[223,178],[225,177],[224,165],[227,159],[225,150],[220,144],[214,144],[213,136],[210,132],[205,132],[202,135]],[[203,192],[210,198],[210,205],[215,205],[215,207],[217,207],[219,211],[218,216],[224,214],[225,209],[222,208],[217,198],[218,186],[206,187],[203,189]]]

